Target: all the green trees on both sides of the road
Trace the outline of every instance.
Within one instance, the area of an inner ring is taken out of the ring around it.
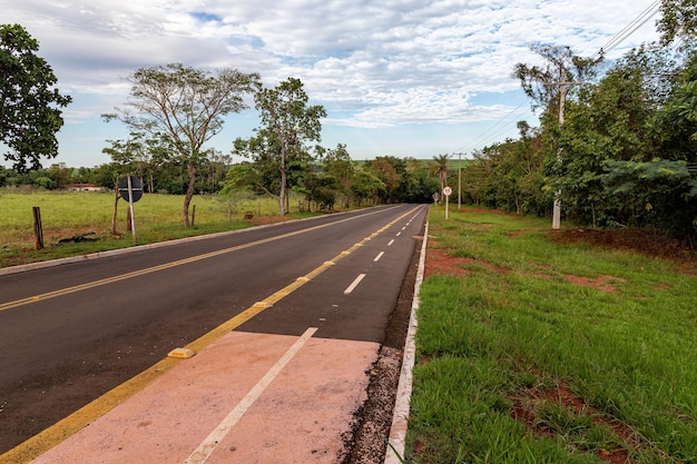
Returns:
[[[464,164],[464,200],[519,214],[563,215],[595,227],[645,227],[697,237],[697,7],[662,0],[660,40],[607,62],[567,47],[536,43],[542,65],[516,65],[540,126],[518,124],[519,137],[484,147]],[[321,146],[322,106],[310,105],[300,79],[264,87],[257,73],[227,68],[212,73],[180,63],[139,69],[122,108],[104,115],[129,128],[108,140],[112,162],[65,172],[41,169],[38,156],[57,155],[60,108],[50,67],[33,53],[38,43],[19,26],[0,26],[6,77],[0,101],[2,141],[13,149],[0,169],[0,186],[45,188],[65,179],[114,187],[124,175],[143,178],[146,191],[183,194],[183,224],[196,192],[269,195],[279,214],[288,191],[308,207],[390,201],[431,201],[445,184],[458,185],[448,157],[431,161],[377,157],[353,161],[345,145]],[[9,65],[6,65],[9,63]],[[261,124],[229,155],[206,149],[223,117],[254,97]],[[27,102],[20,98],[24,96]],[[29,97],[26,97],[29,96]],[[26,118],[36,106],[50,110]],[[232,156],[245,161],[233,165]]]

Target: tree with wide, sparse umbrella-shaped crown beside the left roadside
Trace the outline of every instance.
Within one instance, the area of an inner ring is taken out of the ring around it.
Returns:
[[[257,88],[258,79],[257,73],[245,75],[232,68],[216,76],[180,63],[141,68],[127,78],[132,97],[127,109],[105,115],[107,120],[119,119],[136,132],[170,139],[188,175],[181,210],[185,227],[189,227],[188,209],[203,146],[220,131],[224,116],[247,108],[243,95]]]

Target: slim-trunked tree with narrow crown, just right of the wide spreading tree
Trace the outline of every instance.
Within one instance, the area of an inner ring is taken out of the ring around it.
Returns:
[[[277,148],[269,155],[277,161],[281,175],[278,210],[281,216],[285,216],[288,160],[307,152],[304,146],[306,141],[321,140],[320,118],[326,117],[326,111],[320,105],[307,106],[303,82],[295,78],[288,78],[273,89],[262,88],[254,100],[265,126],[261,135],[273,139],[267,141],[267,146]]]

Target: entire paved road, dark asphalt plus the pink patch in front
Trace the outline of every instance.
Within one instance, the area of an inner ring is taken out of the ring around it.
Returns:
[[[1,275],[0,462],[344,460],[425,213]]]

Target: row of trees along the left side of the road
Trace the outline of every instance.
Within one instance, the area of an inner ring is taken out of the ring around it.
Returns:
[[[23,28],[2,26],[0,33],[4,58],[14,65],[8,69],[14,82],[22,82],[27,89],[56,83],[50,67],[35,55],[38,43]],[[27,57],[33,58],[27,60]],[[37,60],[42,68],[33,73],[32,63]],[[55,134],[62,125],[60,108],[69,103],[67,97],[53,90],[49,95],[52,100],[46,97],[41,101],[52,112],[46,116],[46,121],[30,121],[33,131],[53,144],[27,151],[26,147],[36,141],[26,137],[29,126],[16,130],[3,128],[3,141],[13,149],[6,159],[14,165],[12,169],[0,169],[0,186],[29,184],[51,189],[90,182],[116,189],[119,178],[135,175],[143,179],[146,191],[185,196],[181,209],[185,227],[189,226],[188,207],[195,194],[269,195],[277,198],[279,215],[285,215],[288,191],[303,196],[307,208],[333,209],[337,203],[348,207],[429,201],[438,190],[430,162],[385,156],[359,164],[352,161],[345,145],[333,149],[322,147],[321,118],[326,111],[322,106],[308,103],[300,79],[288,78],[267,88],[254,72],[233,68],[209,72],[169,63],[138,69],[126,80],[130,92],[124,107],[102,115],[106,121],[120,121],[129,130],[126,140],[107,140],[109,146],[102,151],[111,162],[92,169],[60,165],[41,168],[39,156],[57,155]],[[17,86],[10,82],[10,87]],[[22,100],[23,95],[28,92],[3,91],[2,100],[13,105],[18,121],[37,105]],[[229,155],[205,148],[223,128],[226,115],[247,109],[246,95],[254,97],[261,115],[255,135],[234,140]],[[47,124],[49,120],[52,124]],[[247,160],[232,165],[233,155]]]

